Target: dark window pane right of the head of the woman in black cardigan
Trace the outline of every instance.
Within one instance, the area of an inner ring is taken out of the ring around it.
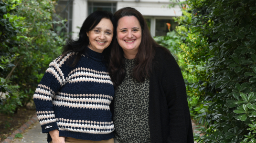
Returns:
[[[169,32],[168,26],[166,25],[166,23],[171,24],[170,31],[173,31],[175,27],[179,25],[178,22],[174,22],[174,20],[156,19],[156,36],[164,36],[166,35],[167,32]]]

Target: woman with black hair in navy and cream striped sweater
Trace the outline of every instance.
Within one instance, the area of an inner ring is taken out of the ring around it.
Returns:
[[[115,24],[112,13],[93,12],[46,70],[33,100],[48,143],[114,143],[106,63]]]

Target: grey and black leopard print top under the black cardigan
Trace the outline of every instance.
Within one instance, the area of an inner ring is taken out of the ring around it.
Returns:
[[[137,82],[131,76],[135,59],[125,62],[126,76],[115,93],[115,137],[120,143],[150,143],[149,79]]]

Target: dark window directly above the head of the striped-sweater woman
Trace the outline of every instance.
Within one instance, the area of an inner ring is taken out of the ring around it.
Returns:
[[[88,15],[96,10],[106,10],[115,13],[117,10],[117,3],[115,2],[88,2]]]

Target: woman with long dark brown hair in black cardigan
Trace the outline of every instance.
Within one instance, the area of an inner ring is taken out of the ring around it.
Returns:
[[[108,71],[116,89],[115,143],[193,143],[192,123],[181,69],[170,51],[151,37],[134,8],[114,14]]]

